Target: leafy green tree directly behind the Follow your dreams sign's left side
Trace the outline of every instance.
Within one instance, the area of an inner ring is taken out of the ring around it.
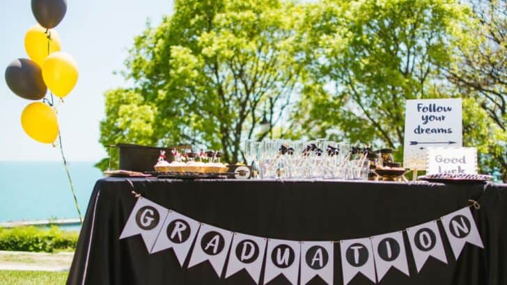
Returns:
[[[438,66],[451,58],[456,42],[448,31],[465,11],[444,0],[324,3],[307,19],[321,87],[305,93],[313,108],[302,120],[324,122],[315,126],[322,136],[338,129],[352,142],[400,147],[405,99],[454,95],[442,92],[448,88]]]

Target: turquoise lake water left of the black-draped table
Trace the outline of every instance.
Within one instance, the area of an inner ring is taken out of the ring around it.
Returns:
[[[93,162],[69,162],[81,214],[102,172]],[[0,222],[78,218],[61,162],[0,161]]]

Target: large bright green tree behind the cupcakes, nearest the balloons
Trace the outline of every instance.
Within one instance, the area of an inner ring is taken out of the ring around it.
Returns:
[[[235,163],[241,140],[269,136],[304,79],[300,8],[192,0],[174,10],[136,38],[124,72],[134,88],[106,93],[101,142],[201,145]],[[267,129],[258,126],[263,116]]]

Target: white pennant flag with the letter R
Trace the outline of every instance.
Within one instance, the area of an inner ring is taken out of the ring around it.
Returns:
[[[169,211],[151,253],[172,248],[180,266],[183,266],[197,235],[199,225],[196,220],[175,211]]]

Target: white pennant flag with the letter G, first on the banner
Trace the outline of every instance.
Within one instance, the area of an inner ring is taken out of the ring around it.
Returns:
[[[146,249],[151,252],[168,213],[169,210],[163,206],[139,197],[123,228],[120,239],[141,234]]]

